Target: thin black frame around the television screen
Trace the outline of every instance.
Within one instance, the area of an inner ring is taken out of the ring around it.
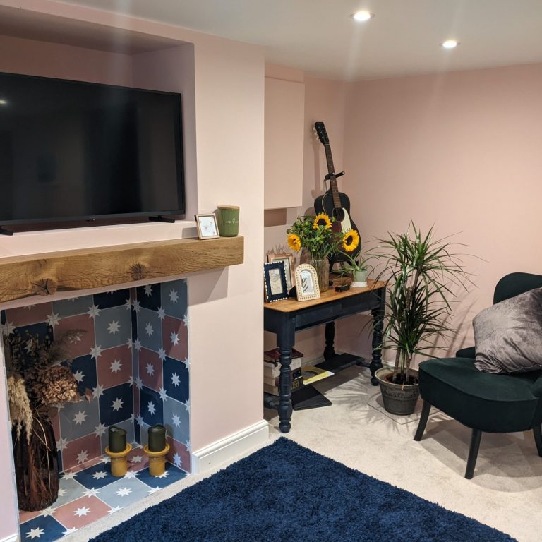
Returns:
[[[66,84],[75,84],[75,85],[90,85],[92,87],[101,87],[101,88],[118,88],[121,90],[139,90],[141,92],[147,92],[149,94],[162,94],[175,96],[178,99],[179,105],[179,130],[176,131],[176,142],[175,146],[179,150],[176,153],[176,167],[177,167],[177,186],[178,190],[178,200],[179,209],[176,210],[152,210],[148,212],[119,212],[112,213],[108,215],[74,215],[70,217],[50,217],[50,218],[40,218],[40,219],[14,219],[14,220],[3,220],[0,217],[0,226],[10,226],[16,224],[47,224],[48,222],[54,222],[62,224],[64,222],[93,222],[96,226],[100,226],[101,221],[107,221],[111,219],[130,219],[130,218],[145,218],[145,217],[162,217],[162,216],[171,216],[179,215],[179,217],[184,217],[186,215],[186,176],[184,174],[184,134],[183,134],[183,101],[182,95],[180,92],[168,92],[166,90],[153,90],[140,87],[128,87],[126,85],[110,85],[109,83],[94,83],[92,81],[83,81],[76,79],[62,79],[58,77],[44,77],[44,76],[32,76],[28,73],[12,73],[0,71],[0,76],[10,76],[13,78],[29,78],[34,80],[54,80],[60,81],[61,83]]]

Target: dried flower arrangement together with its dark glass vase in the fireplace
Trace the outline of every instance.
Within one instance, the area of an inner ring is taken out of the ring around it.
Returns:
[[[59,493],[59,465],[49,406],[78,399],[69,345],[83,330],[40,339],[17,331],[4,338],[9,414],[20,510],[42,510]],[[23,429],[25,437],[23,438]]]

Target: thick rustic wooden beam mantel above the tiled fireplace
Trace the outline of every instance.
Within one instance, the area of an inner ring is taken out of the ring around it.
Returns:
[[[174,239],[0,258],[0,303],[243,263],[244,238]]]

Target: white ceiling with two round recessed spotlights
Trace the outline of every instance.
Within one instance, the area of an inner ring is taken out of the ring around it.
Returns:
[[[542,0],[64,1],[260,44],[269,63],[332,79],[542,62]],[[359,9],[375,17],[356,23]]]

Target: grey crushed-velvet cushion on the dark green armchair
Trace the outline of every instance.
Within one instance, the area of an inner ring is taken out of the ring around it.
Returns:
[[[473,320],[475,366],[486,373],[542,369],[542,288],[500,301]]]

